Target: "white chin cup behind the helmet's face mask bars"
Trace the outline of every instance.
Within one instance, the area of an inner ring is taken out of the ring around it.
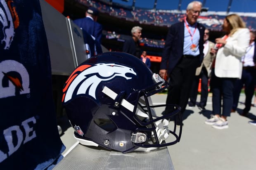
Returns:
[[[159,140],[159,143],[161,144],[164,140],[166,140],[169,137],[169,130],[168,130],[169,121],[166,119],[161,119],[156,121],[154,124],[156,126],[157,138]],[[152,132],[152,139],[153,139],[153,142],[156,142],[154,132]]]

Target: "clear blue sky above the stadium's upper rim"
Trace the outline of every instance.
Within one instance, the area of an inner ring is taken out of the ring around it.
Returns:
[[[112,0],[124,5],[132,5],[133,0],[125,2],[122,0]],[[192,0],[181,0],[181,10],[187,8],[187,4]],[[203,0],[199,0],[203,2]],[[205,0],[204,7],[209,11],[226,12],[229,0]],[[156,9],[178,9],[179,0],[157,0]],[[136,0],[135,7],[153,8],[154,0]],[[232,0],[230,12],[256,12],[256,0]]]

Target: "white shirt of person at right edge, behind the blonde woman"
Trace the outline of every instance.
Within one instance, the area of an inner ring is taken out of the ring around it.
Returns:
[[[249,47],[246,50],[246,54],[242,56],[242,63],[243,66],[254,66],[254,48],[255,48],[255,43],[251,43]]]

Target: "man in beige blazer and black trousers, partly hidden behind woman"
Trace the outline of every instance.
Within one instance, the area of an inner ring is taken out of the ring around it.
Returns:
[[[211,52],[211,48],[214,47],[214,43],[208,40],[209,39],[209,30],[205,29],[204,31],[204,59],[201,66],[197,67],[196,76],[192,83],[192,88],[190,92],[190,102],[188,105],[194,107],[197,103],[197,93],[198,93],[198,84],[199,79],[201,78],[201,99],[197,104],[198,108],[202,111],[205,110],[206,101],[208,97],[208,80],[209,73],[211,70],[211,65],[215,54]]]

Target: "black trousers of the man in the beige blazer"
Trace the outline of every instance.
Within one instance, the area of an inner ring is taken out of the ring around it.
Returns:
[[[208,80],[209,80],[208,72],[205,67],[202,68],[201,73],[198,76],[195,76],[193,80],[192,89],[190,92],[190,102],[194,105],[197,102],[198,84],[199,84],[200,78],[201,78],[201,99],[198,106],[204,107],[206,106],[207,97],[208,97]]]

